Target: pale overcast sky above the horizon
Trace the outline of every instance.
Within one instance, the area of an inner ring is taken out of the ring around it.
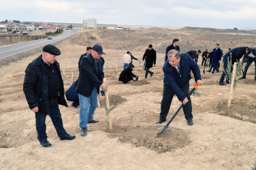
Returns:
[[[0,21],[256,29],[256,0],[0,0]]]

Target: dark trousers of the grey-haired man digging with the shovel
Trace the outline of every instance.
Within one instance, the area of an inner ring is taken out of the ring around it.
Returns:
[[[188,96],[189,95],[189,82],[187,84],[185,84],[185,86],[182,86],[180,89],[182,90],[182,92],[184,92],[184,94],[186,96]],[[172,99],[174,98],[174,95],[175,94],[174,94],[174,91],[172,90],[172,88],[170,88],[169,86],[166,86],[166,85],[163,86],[163,99],[161,101],[160,120],[163,120],[163,121],[166,120],[166,116],[170,110],[170,107],[172,104]],[[185,114],[186,120],[191,120],[191,119],[193,119],[192,103],[191,103],[190,97],[187,99],[189,100],[189,102],[186,103],[186,105],[183,105],[182,109]]]

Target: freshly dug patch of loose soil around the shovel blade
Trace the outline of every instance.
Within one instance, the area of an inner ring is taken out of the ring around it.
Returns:
[[[152,126],[115,126],[110,137],[118,137],[119,141],[129,142],[136,147],[144,146],[157,153],[173,152],[176,148],[183,148],[191,141],[181,129],[168,129],[165,133],[158,134],[159,130]]]

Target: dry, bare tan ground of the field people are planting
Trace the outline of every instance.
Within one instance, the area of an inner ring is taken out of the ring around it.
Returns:
[[[85,46],[95,43],[103,45],[110,105],[116,101],[118,105],[111,112],[113,131],[109,133],[105,124],[104,98],[99,96],[101,107],[97,107],[95,119],[100,122],[89,124],[86,137],[80,136],[78,109],[60,106],[65,129],[76,135],[76,139],[60,141],[50,118],[47,118],[51,148],[39,145],[35,116],[22,92],[25,68],[39,54],[1,67],[0,169],[251,169],[256,160],[256,82],[253,66],[249,67],[246,80],[238,82],[229,109],[229,87],[218,85],[221,74],[202,73],[203,84],[198,88],[202,92],[201,97],[191,97],[194,125],[187,126],[181,110],[169,129],[157,135],[158,129],[164,125],[155,122],[159,118],[163,91],[163,53],[170,39],[174,38],[174,31],[169,32],[167,29],[139,30],[129,32],[133,38],[125,40],[125,32],[86,31],[76,39],[58,44],[62,52],[58,61],[65,72],[65,89],[71,85],[71,73],[74,73],[75,79],[78,78],[78,59],[84,53]],[[217,43],[203,38],[200,42],[194,41],[197,33],[181,32],[177,35],[180,36],[180,48],[184,49],[182,52],[198,48],[203,50]],[[157,39],[159,35],[165,38]],[[230,35],[228,41],[234,43],[232,36],[236,35]],[[254,43],[250,39],[255,35],[244,36],[248,40],[244,44]],[[202,44],[202,41],[209,45]],[[150,43],[157,50],[157,67],[152,69],[154,76],[144,80],[142,66],[133,61],[133,73],[139,75],[140,80],[129,84],[118,82],[115,68],[117,65],[120,73],[123,54],[130,50],[133,56],[142,58]],[[234,44],[224,43],[227,48],[234,47]],[[199,67],[202,72],[203,67]],[[190,84],[192,88],[195,81],[192,79]],[[68,104],[71,105],[71,102]],[[179,105],[180,102],[174,97],[167,120]]]

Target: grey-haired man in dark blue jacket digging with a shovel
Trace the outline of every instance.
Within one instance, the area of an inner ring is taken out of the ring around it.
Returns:
[[[163,99],[161,101],[160,118],[156,124],[166,121],[166,116],[170,110],[174,95],[184,105],[182,106],[187,124],[193,125],[192,104],[189,95],[189,80],[191,80],[191,70],[197,84],[202,83],[200,70],[187,53],[180,53],[178,50],[171,50],[167,54],[168,60],[163,65]]]

